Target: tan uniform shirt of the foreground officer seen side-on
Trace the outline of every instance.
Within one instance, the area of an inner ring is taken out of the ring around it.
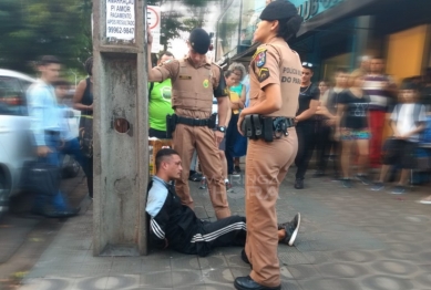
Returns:
[[[268,116],[295,117],[298,110],[298,95],[302,66],[299,55],[286,41],[274,39],[257,48],[253,56],[250,72],[250,106],[265,102],[264,89],[279,84],[281,108]]]

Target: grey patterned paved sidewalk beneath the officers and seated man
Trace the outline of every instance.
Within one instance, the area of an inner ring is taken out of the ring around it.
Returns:
[[[295,168],[281,185],[280,221],[298,211],[301,228],[295,247],[279,245],[283,289],[431,289],[431,207],[417,200],[429,188],[404,195],[346,189],[327,178],[309,178],[294,189]],[[309,174],[311,175],[311,174]],[[233,180],[233,214],[244,215],[244,189]],[[191,183],[201,218],[214,219],[206,190]],[[235,277],[249,273],[240,248],[220,248],[201,258],[173,252],[146,257],[93,257],[92,204],[69,219],[22,280],[20,289],[234,289]]]

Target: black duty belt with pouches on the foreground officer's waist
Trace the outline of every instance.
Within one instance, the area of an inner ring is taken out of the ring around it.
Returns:
[[[266,117],[258,114],[247,115],[242,131],[250,139],[273,142],[275,138],[288,136],[287,128],[295,126],[295,120],[288,117]]]

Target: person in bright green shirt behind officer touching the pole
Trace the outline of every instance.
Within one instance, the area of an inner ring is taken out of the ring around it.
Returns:
[[[168,51],[161,52],[157,65],[173,61],[174,54]],[[166,115],[174,114],[172,108],[172,84],[171,79],[163,82],[148,83],[148,137],[165,139],[166,137]]]

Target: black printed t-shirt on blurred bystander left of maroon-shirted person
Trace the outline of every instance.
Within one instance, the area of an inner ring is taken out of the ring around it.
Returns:
[[[350,90],[346,90],[340,93],[338,102],[345,105],[341,127],[355,130],[368,127],[369,95],[363,94],[362,97],[357,97]]]

